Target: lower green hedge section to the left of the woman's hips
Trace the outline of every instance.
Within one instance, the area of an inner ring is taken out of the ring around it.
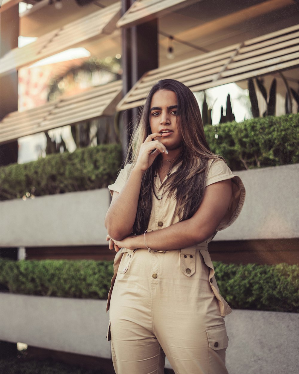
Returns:
[[[14,294],[105,299],[112,261],[0,259],[0,285]]]

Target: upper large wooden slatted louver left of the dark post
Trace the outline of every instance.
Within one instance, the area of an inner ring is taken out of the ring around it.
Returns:
[[[110,34],[115,30],[119,17],[120,2],[117,2],[53,30],[33,43],[15,48],[0,59],[0,75],[8,74],[70,47],[80,45],[85,40]]]

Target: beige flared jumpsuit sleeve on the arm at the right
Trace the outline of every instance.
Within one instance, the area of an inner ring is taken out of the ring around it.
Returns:
[[[232,196],[229,202],[228,210],[222,219],[221,223],[217,227],[216,231],[224,230],[230,226],[240,214],[245,200],[245,187],[241,178],[237,175],[232,174],[231,169],[221,159],[213,159],[209,161],[208,172],[206,177],[206,187],[210,184],[224,181],[227,179],[232,180]]]

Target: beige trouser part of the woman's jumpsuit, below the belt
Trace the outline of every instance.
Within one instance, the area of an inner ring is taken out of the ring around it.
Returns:
[[[176,374],[228,373],[226,329],[209,269],[199,251],[190,253],[190,276],[180,251],[123,254],[110,301],[117,374],[163,374],[165,354]]]

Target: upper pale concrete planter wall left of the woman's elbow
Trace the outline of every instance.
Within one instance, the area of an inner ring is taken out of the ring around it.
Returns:
[[[106,245],[107,188],[0,202],[0,247]]]

